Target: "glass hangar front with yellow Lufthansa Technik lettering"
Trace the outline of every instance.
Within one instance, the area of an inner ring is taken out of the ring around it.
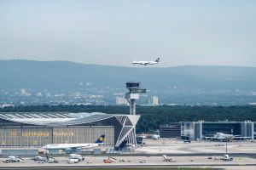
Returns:
[[[94,143],[102,134],[104,144],[114,144],[114,127],[0,127],[1,146]]]

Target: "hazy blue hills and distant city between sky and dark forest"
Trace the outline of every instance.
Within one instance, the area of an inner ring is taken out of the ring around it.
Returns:
[[[125,82],[147,88],[138,101],[160,97],[172,105],[254,105],[256,68],[179,66],[132,68],[67,61],[0,60],[0,103],[10,105],[112,105]],[[171,96],[171,97],[170,97]]]

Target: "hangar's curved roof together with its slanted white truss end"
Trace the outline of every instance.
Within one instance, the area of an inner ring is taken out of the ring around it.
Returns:
[[[106,126],[114,126],[119,123],[119,126],[115,129],[119,133],[118,137],[115,137],[115,147],[119,147],[125,140],[129,144],[136,143],[136,131],[135,126],[139,119],[139,115],[113,115],[105,114],[100,112],[92,113],[68,113],[68,112],[0,112],[0,125],[3,123],[7,126],[15,126],[13,122],[18,122],[25,125],[33,126],[47,126],[47,127],[58,127],[58,126],[69,126],[69,125],[86,125],[90,122],[99,122],[108,118],[114,117],[116,122],[106,121],[98,124],[106,123]],[[7,122],[5,124],[5,122]],[[9,123],[11,122],[11,123]],[[88,124],[91,125],[91,124]],[[95,123],[97,126],[97,123]]]

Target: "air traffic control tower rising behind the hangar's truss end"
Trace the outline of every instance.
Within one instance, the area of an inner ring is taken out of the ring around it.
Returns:
[[[129,93],[125,94],[125,99],[130,104],[130,115],[136,115],[135,100],[139,99],[139,94],[146,93],[146,89],[140,87],[141,82],[126,82],[126,88]]]

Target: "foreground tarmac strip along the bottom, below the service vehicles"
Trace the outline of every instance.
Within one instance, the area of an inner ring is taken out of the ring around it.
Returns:
[[[112,163],[104,163],[103,159],[107,159],[108,156],[87,156],[84,161],[79,163],[68,164],[67,156],[56,157],[59,163],[38,163],[38,161],[32,161],[30,158],[24,158],[25,163],[13,162],[4,163],[4,158],[1,158],[0,169],[35,169],[38,168],[61,168],[63,167],[225,167],[230,169],[230,167],[235,168],[246,167],[246,169],[255,169],[256,160],[247,157],[235,157],[234,161],[222,161],[222,160],[209,160],[207,156],[177,156],[175,157],[175,162],[163,161],[161,156],[115,156],[118,161]],[[123,161],[120,161],[123,160]],[[146,161],[145,163],[140,163],[139,161]],[[91,162],[91,163],[89,163]]]

